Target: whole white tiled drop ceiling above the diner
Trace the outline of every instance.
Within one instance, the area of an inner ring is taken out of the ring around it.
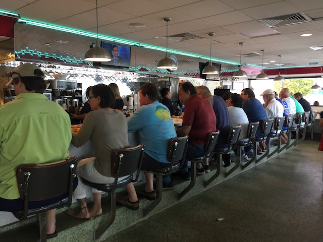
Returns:
[[[2,0],[1,10],[24,19],[96,32],[95,0]],[[311,21],[270,28],[258,20],[302,13]],[[307,66],[313,60],[323,65],[322,0],[98,0],[99,34],[166,47],[166,23],[171,17],[169,35],[184,33],[199,38],[170,38],[169,48],[209,56],[208,32],[212,37],[212,57],[240,62],[242,54],[265,49],[266,67],[277,67],[278,55],[286,66]],[[143,28],[130,27],[142,23]],[[303,33],[312,36],[301,37]],[[261,66],[262,56],[242,57],[242,64]],[[271,63],[270,61],[276,61]]]

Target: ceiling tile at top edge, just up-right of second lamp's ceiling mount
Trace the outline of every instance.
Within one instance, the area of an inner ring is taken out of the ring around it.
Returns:
[[[203,18],[216,14],[232,12],[235,9],[217,0],[203,0],[201,2],[175,8],[174,10],[194,18]]]

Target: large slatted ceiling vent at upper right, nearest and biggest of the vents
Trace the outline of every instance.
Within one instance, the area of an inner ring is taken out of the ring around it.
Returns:
[[[306,14],[297,13],[297,14],[277,16],[270,19],[259,19],[258,21],[272,28],[272,27],[278,27],[283,25],[306,23],[313,20]]]

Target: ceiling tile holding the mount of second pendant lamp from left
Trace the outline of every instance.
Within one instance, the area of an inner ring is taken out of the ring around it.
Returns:
[[[189,21],[189,20],[194,20],[193,17],[187,16],[185,14],[182,14],[182,13],[177,12],[172,9],[169,9],[166,11],[161,11],[161,12],[154,13],[154,14],[145,15],[145,16],[142,16],[141,18],[149,20],[149,21],[157,23],[157,24],[165,25],[166,23],[163,20],[164,17],[172,18],[172,20],[168,23],[169,25],[180,23],[180,22],[185,22],[185,21]]]

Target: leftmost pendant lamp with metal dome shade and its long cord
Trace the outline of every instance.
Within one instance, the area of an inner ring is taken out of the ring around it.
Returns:
[[[107,52],[106,49],[100,47],[99,40],[98,40],[98,21],[97,21],[97,0],[96,0],[96,43],[95,47],[90,48],[85,53],[85,61],[89,62],[110,62],[111,55]]]

